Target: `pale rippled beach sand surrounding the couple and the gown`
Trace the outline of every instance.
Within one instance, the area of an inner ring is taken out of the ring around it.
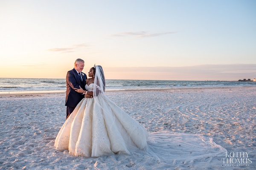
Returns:
[[[115,91],[107,95],[156,140],[165,134],[179,147],[189,140],[186,134],[197,134],[198,139],[212,139],[228,153],[248,153],[252,162],[230,166],[223,163],[225,153],[185,163],[182,159],[157,162],[137,153],[71,156],[67,150],[54,149],[66,117],[65,94],[23,94],[0,96],[0,169],[256,169],[256,87]],[[184,138],[178,140],[178,136]]]

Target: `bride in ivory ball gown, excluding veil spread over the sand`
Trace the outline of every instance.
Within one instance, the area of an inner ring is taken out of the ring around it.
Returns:
[[[105,95],[105,77],[102,66],[97,65],[88,73],[85,98],[61,127],[56,139],[57,150],[69,150],[74,156],[98,157],[111,154],[131,154],[146,149],[148,132],[135,119]]]

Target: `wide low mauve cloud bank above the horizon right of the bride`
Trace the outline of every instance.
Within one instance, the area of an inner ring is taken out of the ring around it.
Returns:
[[[228,80],[256,78],[256,64],[104,68],[108,79]],[[120,74],[119,77],[116,75]]]

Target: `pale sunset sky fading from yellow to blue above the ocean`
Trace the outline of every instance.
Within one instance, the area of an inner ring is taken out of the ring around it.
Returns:
[[[255,0],[0,0],[0,77],[256,78]]]

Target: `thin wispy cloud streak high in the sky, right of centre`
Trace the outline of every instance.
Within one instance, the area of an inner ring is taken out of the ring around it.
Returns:
[[[166,34],[174,34],[177,32],[163,32],[163,33],[156,33],[156,34],[149,34],[146,31],[140,31],[140,32],[122,32],[118,34],[112,34],[111,37],[125,37],[125,36],[133,36],[137,38],[145,38],[145,37],[157,37],[161,35]]]

